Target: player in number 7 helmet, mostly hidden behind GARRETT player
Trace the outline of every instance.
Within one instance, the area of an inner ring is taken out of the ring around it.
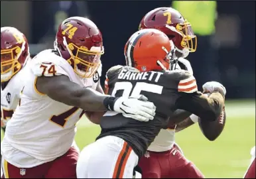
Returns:
[[[171,63],[170,70],[181,68],[193,74],[190,62],[185,59],[190,52],[196,51],[197,46],[196,36],[190,23],[175,9],[159,7],[149,11],[141,20],[139,30],[149,28],[164,32],[173,42],[176,57]],[[175,133],[197,122],[198,117],[191,115],[177,125],[160,130],[155,141],[139,160],[143,178],[204,178],[202,172],[186,159],[175,143]]]

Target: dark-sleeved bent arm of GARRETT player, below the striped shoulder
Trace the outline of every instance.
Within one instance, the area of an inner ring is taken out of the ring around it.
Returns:
[[[194,113],[201,119],[215,121],[224,107],[224,97],[219,92],[214,92],[209,97],[202,95],[202,93],[186,93],[178,99],[177,106],[179,109]]]

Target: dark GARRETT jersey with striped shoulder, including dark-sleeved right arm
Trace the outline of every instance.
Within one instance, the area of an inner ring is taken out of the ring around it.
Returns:
[[[214,121],[224,105],[224,97],[220,93],[214,92],[214,98],[208,98],[198,92],[194,76],[184,70],[139,72],[127,66],[114,66],[107,72],[107,86],[110,95],[143,94],[157,106],[155,119],[148,123],[113,112],[105,113],[101,120],[102,131],[98,139],[106,135],[120,137],[131,145],[139,157],[160,129],[166,129],[169,116],[176,109]]]

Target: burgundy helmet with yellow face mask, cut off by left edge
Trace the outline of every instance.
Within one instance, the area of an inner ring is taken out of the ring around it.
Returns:
[[[17,74],[29,56],[26,36],[14,27],[1,27],[1,82]]]

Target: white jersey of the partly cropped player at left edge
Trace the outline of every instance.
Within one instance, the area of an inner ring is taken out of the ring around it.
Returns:
[[[30,58],[27,63],[30,62]],[[1,82],[1,123],[3,126],[7,124],[7,121],[11,119],[13,112],[15,111],[19,99],[20,93],[23,88],[23,82],[26,78],[25,72],[28,65],[25,65],[15,76],[9,80],[9,82]]]

